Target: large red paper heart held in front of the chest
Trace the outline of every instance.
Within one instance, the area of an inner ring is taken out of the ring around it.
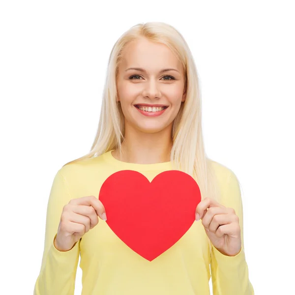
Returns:
[[[192,226],[201,193],[194,178],[178,170],[162,172],[151,182],[139,172],[123,170],[105,180],[99,200],[113,232],[152,261]]]

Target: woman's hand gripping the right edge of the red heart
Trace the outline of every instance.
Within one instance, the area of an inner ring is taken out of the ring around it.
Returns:
[[[199,214],[199,216],[198,216]],[[236,256],[241,250],[241,229],[233,208],[206,198],[196,208],[196,220],[202,224],[212,245],[222,254]]]

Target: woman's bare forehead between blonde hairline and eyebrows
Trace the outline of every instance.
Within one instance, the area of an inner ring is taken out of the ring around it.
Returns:
[[[165,44],[147,38],[131,41],[122,52],[122,68],[143,67],[148,71],[175,67],[181,71],[181,62]]]

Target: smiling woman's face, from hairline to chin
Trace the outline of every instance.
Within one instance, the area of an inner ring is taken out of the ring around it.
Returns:
[[[146,38],[130,42],[117,77],[125,128],[146,133],[171,129],[185,100],[184,81],[181,62],[166,45]]]

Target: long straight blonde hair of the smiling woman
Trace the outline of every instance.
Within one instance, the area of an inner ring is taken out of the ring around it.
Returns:
[[[186,99],[173,122],[171,161],[176,169],[196,179],[202,199],[210,197],[218,201],[219,188],[214,173],[214,161],[207,157],[204,148],[201,94],[195,62],[183,36],[177,29],[162,22],[137,24],[121,35],[115,43],[108,62],[98,129],[91,150],[85,156],[65,165],[96,157],[113,149],[121,151],[125,126],[123,113],[117,102],[118,68],[124,48],[129,42],[141,37],[165,44],[183,65]]]

